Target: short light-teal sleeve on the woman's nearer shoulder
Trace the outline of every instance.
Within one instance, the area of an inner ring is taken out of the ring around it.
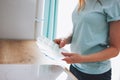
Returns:
[[[112,5],[109,4],[109,7],[105,9],[105,13],[107,16],[107,22],[120,20],[120,2],[115,0]]]

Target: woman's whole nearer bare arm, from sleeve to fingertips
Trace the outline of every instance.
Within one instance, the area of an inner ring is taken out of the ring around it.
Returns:
[[[67,63],[98,62],[113,58],[120,51],[120,21],[110,23],[110,47],[97,53],[79,55],[75,53],[62,53]]]

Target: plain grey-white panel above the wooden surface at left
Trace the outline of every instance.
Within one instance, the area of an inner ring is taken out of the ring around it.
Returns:
[[[0,0],[0,39],[34,39],[36,0]]]

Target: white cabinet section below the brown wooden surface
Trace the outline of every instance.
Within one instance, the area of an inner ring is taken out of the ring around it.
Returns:
[[[0,80],[77,80],[59,65],[0,65]]]

